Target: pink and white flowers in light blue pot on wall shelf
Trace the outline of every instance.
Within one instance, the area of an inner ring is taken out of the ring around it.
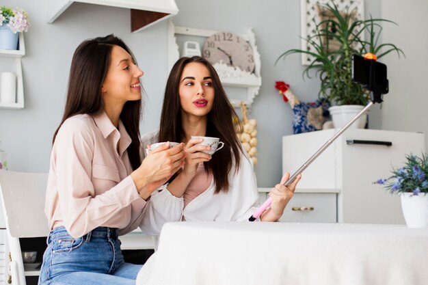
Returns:
[[[24,10],[0,7],[0,49],[18,49],[18,33],[28,28],[28,15]]]

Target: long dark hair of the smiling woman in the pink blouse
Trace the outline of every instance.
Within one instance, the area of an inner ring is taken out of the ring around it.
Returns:
[[[77,47],[70,67],[64,115],[53,135],[52,143],[55,142],[59,128],[68,118],[84,113],[96,115],[103,111],[101,87],[109,69],[113,45],[122,47],[135,62],[135,57],[129,47],[113,34],[85,40]],[[137,169],[141,164],[139,156],[139,120],[141,116],[142,100],[126,102],[120,113],[120,120],[132,139],[127,150],[133,169]]]

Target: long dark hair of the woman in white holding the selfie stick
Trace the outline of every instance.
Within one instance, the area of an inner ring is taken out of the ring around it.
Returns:
[[[213,174],[215,193],[220,191],[227,193],[229,189],[228,174],[233,163],[235,163],[235,172],[238,171],[241,163],[240,153],[243,151],[233,126],[233,120],[238,116],[228,100],[217,72],[203,57],[181,57],[172,67],[163,98],[159,141],[184,141],[186,135],[191,135],[185,134],[181,125],[180,96],[178,95],[181,74],[185,66],[191,62],[206,66],[213,79],[215,96],[213,109],[208,114],[205,135],[219,137],[220,141],[224,142],[224,148],[215,152],[213,158],[204,163],[204,167],[206,172]]]

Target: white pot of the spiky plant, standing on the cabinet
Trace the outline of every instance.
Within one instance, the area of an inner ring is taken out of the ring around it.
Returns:
[[[328,111],[330,111],[330,115],[332,116],[334,127],[342,128],[353,117],[360,113],[362,109],[364,109],[362,105],[340,105],[332,106]],[[364,128],[364,126],[366,126],[368,113],[368,111],[364,112],[356,122],[353,122],[353,124],[349,126],[349,128]]]

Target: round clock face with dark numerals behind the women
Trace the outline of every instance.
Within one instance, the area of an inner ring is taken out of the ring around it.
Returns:
[[[206,39],[202,53],[211,64],[222,61],[246,72],[254,71],[252,47],[236,33],[214,33]]]

